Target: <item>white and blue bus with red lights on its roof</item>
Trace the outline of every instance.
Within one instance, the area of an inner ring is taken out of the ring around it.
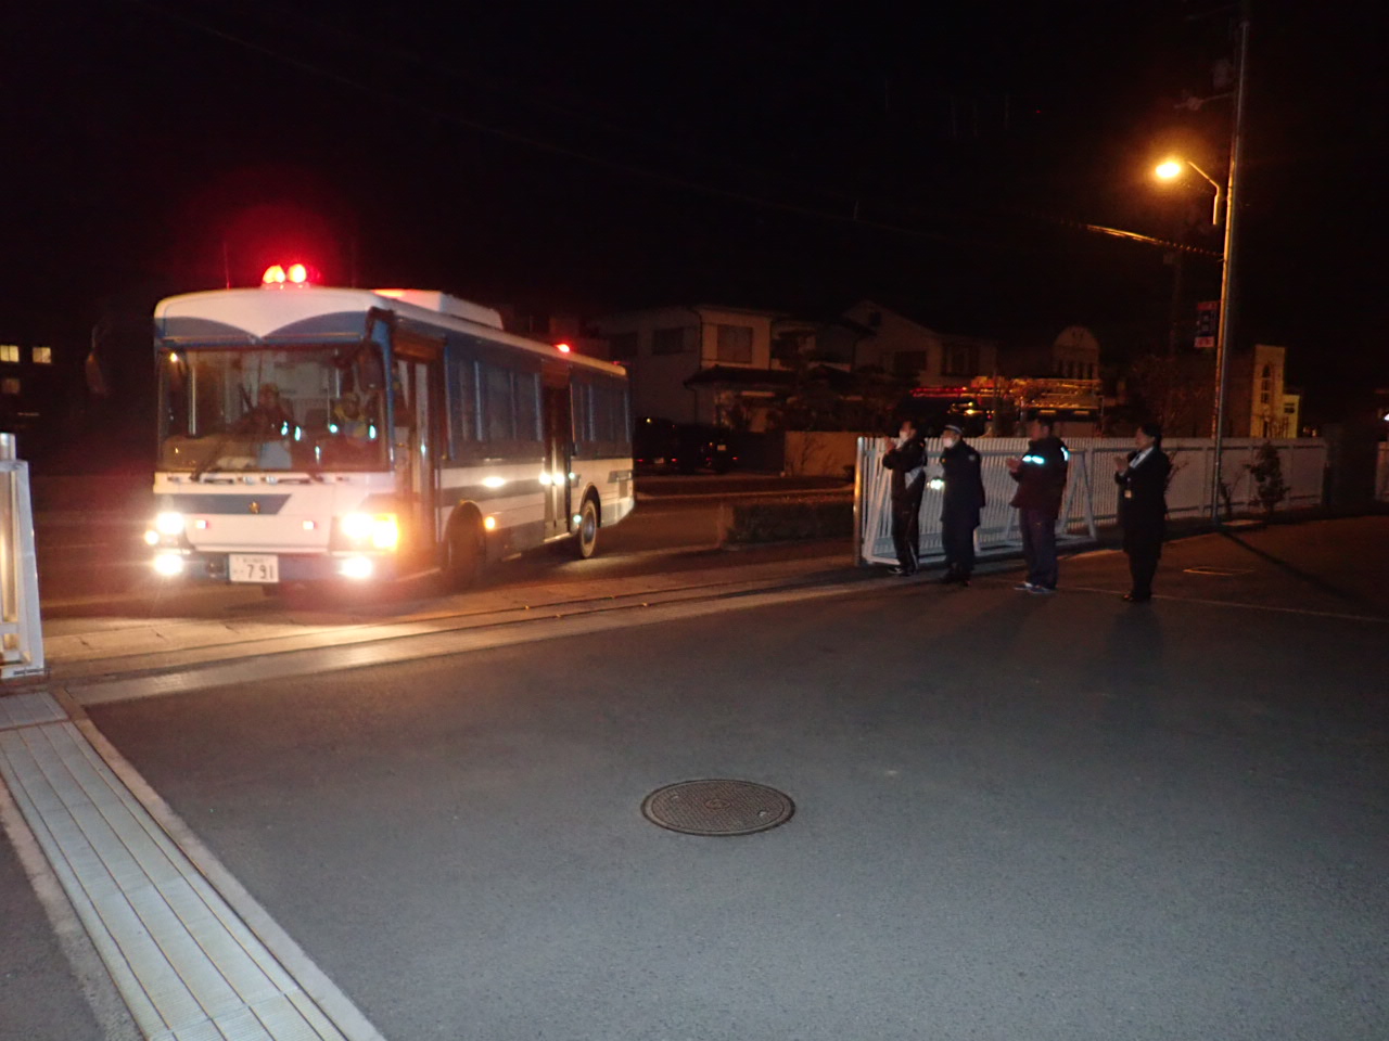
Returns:
[[[267,587],[393,580],[632,512],[626,373],[425,290],[260,289],[158,304],[160,575]]]

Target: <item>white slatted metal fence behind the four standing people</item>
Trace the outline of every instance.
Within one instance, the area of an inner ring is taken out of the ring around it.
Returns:
[[[979,518],[976,544],[979,552],[1017,550],[1022,545],[1018,534],[1018,511],[1008,505],[1017,483],[1008,475],[1004,459],[1022,455],[1028,443],[1018,437],[981,437],[971,444],[983,457],[983,489],[988,505]],[[1263,512],[1250,466],[1258,439],[1226,439],[1221,450],[1221,477],[1226,489],[1229,508],[1236,514]],[[1276,509],[1320,505],[1326,466],[1326,444],[1320,439],[1272,441],[1282,464],[1288,496]],[[895,564],[892,545],[890,471],[882,465],[885,443],[881,439],[858,440],[858,477],[854,482],[854,518],[857,557],[864,564]],[[1071,450],[1071,472],[1065,487],[1057,537],[1065,543],[1090,541],[1100,525],[1114,523],[1118,514],[1118,487],[1114,483],[1114,457],[1133,451],[1133,441],[1117,437],[1079,437],[1067,441]],[[1214,444],[1208,439],[1171,439],[1163,443],[1172,458],[1172,476],[1167,489],[1167,511],[1171,518],[1200,518],[1211,512],[1211,466]],[[926,441],[932,466],[926,476],[940,472],[940,441]],[[1381,454],[1381,473],[1386,457]],[[1381,489],[1383,489],[1381,482]],[[940,493],[926,489],[921,502],[921,557],[942,557],[940,548]]]

